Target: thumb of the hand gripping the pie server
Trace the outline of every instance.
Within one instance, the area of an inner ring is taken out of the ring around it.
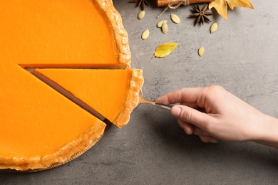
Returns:
[[[206,113],[200,112],[185,105],[175,105],[171,109],[171,114],[174,117],[177,117],[177,119],[191,123],[192,125],[200,128],[203,128],[211,118]]]

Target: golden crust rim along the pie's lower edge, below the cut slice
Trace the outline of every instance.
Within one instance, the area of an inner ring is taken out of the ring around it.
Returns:
[[[105,129],[105,124],[100,121],[96,127],[87,129],[80,137],[61,147],[57,152],[43,157],[25,159],[0,156],[0,171],[37,172],[53,169],[67,162],[71,162],[93,147],[109,127],[110,125],[106,126]]]

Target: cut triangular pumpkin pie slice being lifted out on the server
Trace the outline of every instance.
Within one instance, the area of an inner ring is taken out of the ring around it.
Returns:
[[[36,69],[98,110],[118,127],[130,119],[143,85],[142,70]]]

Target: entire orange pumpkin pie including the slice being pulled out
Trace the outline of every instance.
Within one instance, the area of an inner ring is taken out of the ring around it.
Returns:
[[[10,0],[0,6],[0,170],[41,171],[93,147],[108,125],[26,68],[123,127],[142,70],[111,0]]]

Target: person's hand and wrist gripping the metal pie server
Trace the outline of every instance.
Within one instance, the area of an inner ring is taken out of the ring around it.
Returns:
[[[203,142],[254,141],[278,147],[278,121],[264,115],[220,86],[182,88],[159,97],[175,105],[171,113],[187,134]]]

